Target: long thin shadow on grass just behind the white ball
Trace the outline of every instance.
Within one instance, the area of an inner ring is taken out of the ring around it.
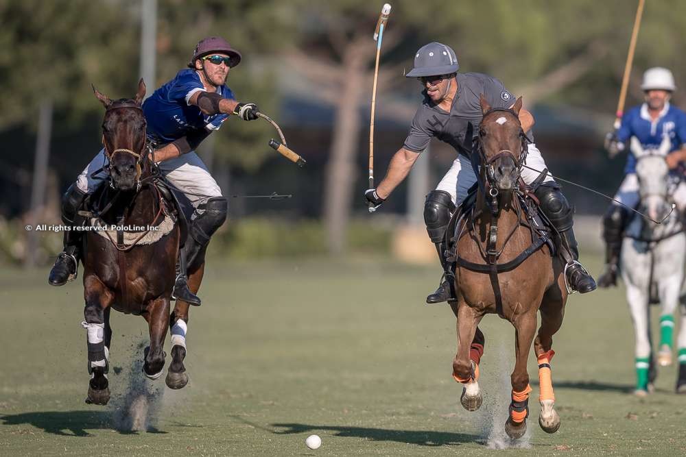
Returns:
[[[276,434],[308,433],[327,430],[335,436],[364,438],[373,441],[396,441],[421,446],[459,445],[477,443],[480,436],[466,433],[432,432],[427,430],[387,430],[383,428],[345,427],[342,425],[308,425],[306,423],[272,423],[273,427],[285,428]]]

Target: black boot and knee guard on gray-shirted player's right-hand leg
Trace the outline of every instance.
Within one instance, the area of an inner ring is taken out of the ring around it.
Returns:
[[[595,280],[579,262],[579,249],[572,226],[574,210],[555,182],[545,182],[535,191],[541,202],[541,210],[554,225],[559,236],[556,240],[558,255],[565,260],[565,279],[573,291],[588,293],[595,291]]]

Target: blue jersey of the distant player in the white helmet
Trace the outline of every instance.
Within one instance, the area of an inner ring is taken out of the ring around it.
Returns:
[[[652,121],[648,114],[648,105],[643,103],[632,108],[622,118],[622,127],[617,131],[617,138],[628,146],[630,138],[635,136],[643,149],[656,149],[665,134],[672,139],[670,152],[681,149],[681,145],[686,143],[686,113],[665,103],[658,118]],[[631,152],[626,160],[624,173],[636,173],[636,158]]]

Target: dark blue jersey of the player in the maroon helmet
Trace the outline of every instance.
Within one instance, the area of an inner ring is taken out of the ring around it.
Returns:
[[[200,76],[191,69],[179,71],[174,79],[155,90],[143,102],[147,136],[165,144],[193,131],[211,132],[221,127],[228,114],[207,116],[197,106],[189,105],[191,95],[200,90],[205,90]],[[234,98],[226,86],[220,86],[217,92],[226,99]]]

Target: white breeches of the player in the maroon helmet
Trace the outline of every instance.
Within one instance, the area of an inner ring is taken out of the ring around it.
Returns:
[[[81,172],[76,180],[76,186],[84,193],[92,193],[102,180],[108,175],[107,158],[104,149],[91,160],[86,169]],[[207,167],[194,151],[185,153],[173,159],[158,163],[160,171],[178,188],[194,207],[198,207],[209,197],[221,197],[222,189]],[[98,169],[103,168],[97,175],[91,176]]]

